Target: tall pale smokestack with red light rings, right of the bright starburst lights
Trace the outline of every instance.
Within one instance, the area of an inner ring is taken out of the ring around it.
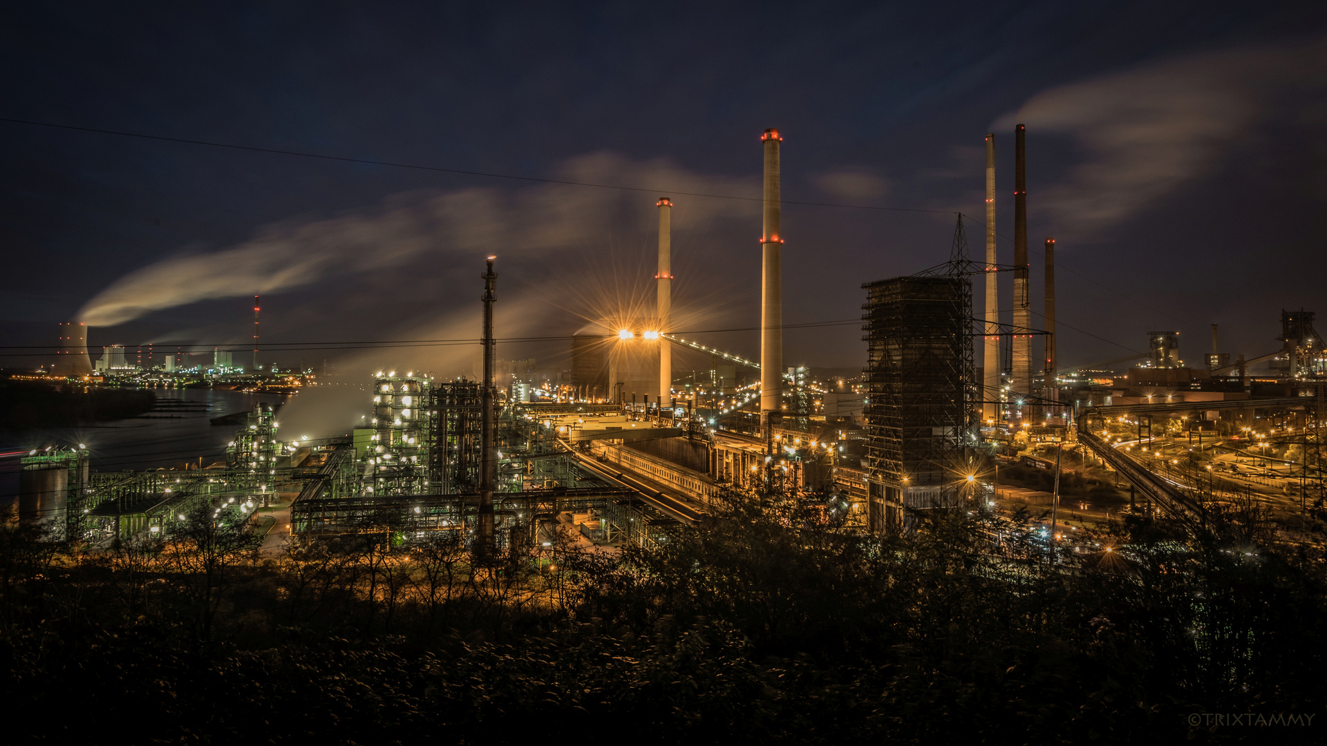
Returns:
[[[783,414],[783,277],[779,255],[779,130],[764,130],[764,231],[760,236],[760,419],[766,439]]]

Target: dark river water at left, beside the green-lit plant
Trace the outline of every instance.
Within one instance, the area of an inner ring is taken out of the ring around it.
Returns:
[[[32,449],[46,446],[88,446],[93,471],[145,470],[183,467],[187,461],[203,466],[226,459],[226,445],[235,437],[235,425],[212,425],[211,418],[236,411],[252,410],[257,402],[273,406],[288,401],[289,394],[247,393],[227,389],[154,389],[158,406],[129,419],[113,419],[78,427],[42,427],[21,433],[0,433],[0,499],[12,499],[19,492],[19,459]],[[203,411],[174,411],[178,406],[207,409]]]

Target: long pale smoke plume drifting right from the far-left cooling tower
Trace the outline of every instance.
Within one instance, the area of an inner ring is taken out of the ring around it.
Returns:
[[[666,161],[634,162],[609,153],[573,158],[559,179],[658,187],[658,195],[701,192],[759,196],[756,178],[695,174]],[[630,224],[654,192],[539,185],[516,191],[463,188],[407,194],[362,214],[277,226],[219,251],[174,256],[131,272],[89,300],[78,320],[113,327],[200,300],[276,293],[333,275],[382,272],[421,258],[548,252],[584,247],[605,226]],[[674,196],[686,226],[759,215],[760,203]]]

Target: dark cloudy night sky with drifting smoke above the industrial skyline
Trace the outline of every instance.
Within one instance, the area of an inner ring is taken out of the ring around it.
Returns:
[[[954,212],[983,216],[987,131],[1011,261],[1015,122],[1063,365],[1153,329],[1201,365],[1213,323],[1253,357],[1282,308],[1327,315],[1323,4],[28,3],[0,38],[9,119],[646,190],[0,122],[7,345],[76,317],[94,346],[244,345],[256,292],[271,341],[476,337],[487,254],[499,336],[564,336],[650,296],[660,195],[674,331],[752,327],[759,202],[681,192],[759,196],[766,127],[784,199],[922,210],[787,204],[786,323],[860,317],[861,283],[943,261]],[[695,336],[758,353],[755,332]],[[472,349],[276,360],[454,374]],[[860,366],[860,329],[788,331],[786,361]]]

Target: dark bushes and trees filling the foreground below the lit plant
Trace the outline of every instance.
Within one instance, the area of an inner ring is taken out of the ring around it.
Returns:
[[[1192,713],[1322,710],[1318,547],[1164,523],[991,552],[731,495],[664,550],[478,563],[364,534],[263,559],[208,515],[85,554],[0,532],[12,742],[1320,742]],[[23,713],[27,713],[24,715]],[[65,713],[50,717],[37,713]]]

